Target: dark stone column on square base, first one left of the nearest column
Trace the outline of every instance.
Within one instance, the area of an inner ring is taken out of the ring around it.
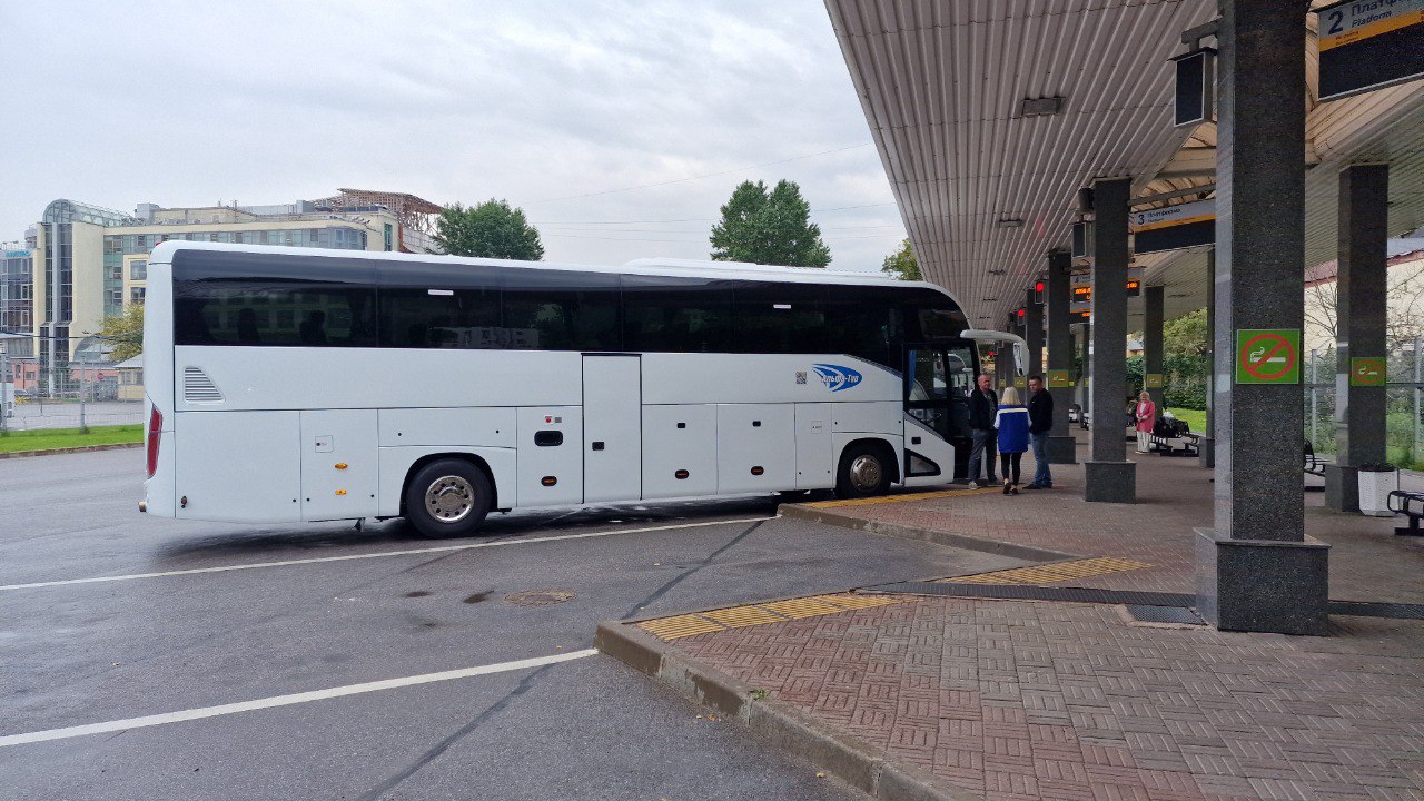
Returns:
[[[1132,178],[1094,182],[1092,217],[1092,448],[1084,500],[1136,500],[1136,465],[1126,460],[1128,200]]]

